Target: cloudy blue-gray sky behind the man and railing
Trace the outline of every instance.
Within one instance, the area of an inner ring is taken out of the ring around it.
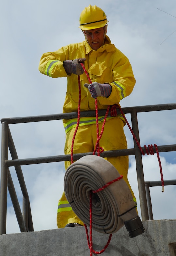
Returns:
[[[66,78],[52,79],[38,71],[41,55],[84,40],[79,26],[81,11],[102,8],[109,20],[107,35],[130,60],[136,85],[121,107],[175,103],[176,0],[6,0],[1,3],[1,101],[0,119],[62,113]],[[126,115],[130,123],[130,116]],[[140,144],[176,144],[175,110],[139,113]],[[10,131],[18,158],[64,154],[62,120],[13,124]],[[125,126],[128,148],[133,138]],[[11,159],[9,154],[9,159]],[[160,154],[164,180],[176,179],[175,152]],[[129,158],[128,178],[140,212],[134,156]],[[142,156],[145,181],[160,180],[156,154]],[[63,192],[64,163],[22,166],[34,230],[57,228],[58,200]],[[10,172],[22,205],[14,167]],[[150,189],[154,219],[176,218],[176,187]],[[8,195],[6,233],[20,232]]]

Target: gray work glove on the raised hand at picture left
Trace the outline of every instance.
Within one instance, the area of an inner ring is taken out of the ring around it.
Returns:
[[[63,66],[67,75],[71,75],[72,73],[76,75],[83,74],[84,70],[80,63],[84,64],[85,60],[86,60],[85,58],[65,60]]]

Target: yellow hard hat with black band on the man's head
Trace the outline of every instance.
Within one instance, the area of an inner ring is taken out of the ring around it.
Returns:
[[[104,27],[108,22],[105,12],[98,6],[89,5],[81,12],[79,28],[82,30]]]

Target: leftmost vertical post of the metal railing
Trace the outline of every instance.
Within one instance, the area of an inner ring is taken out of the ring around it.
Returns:
[[[8,123],[2,123],[1,142],[1,184],[0,184],[0,235],[6,234],[7,182],[8,182]]]

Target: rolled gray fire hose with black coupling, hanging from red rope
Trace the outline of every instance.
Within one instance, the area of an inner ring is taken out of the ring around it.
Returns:
[[[97,190],[120,177],[116,168],[96,155],[86,155],[72,163],[64,177],[64,191],[74,213],[90,225],[90,191]],[[92,193],[92,229],[113,234],[125,224],[130,237],[145,232],[137,215],[133,197],[126,182],[120,179],[102,191]]]

